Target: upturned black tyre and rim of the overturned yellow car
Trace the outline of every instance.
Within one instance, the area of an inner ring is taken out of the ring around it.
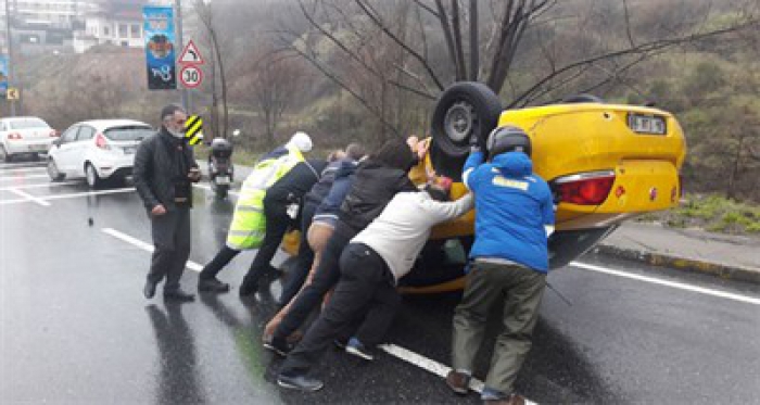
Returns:
[[[460,180],[461,166],[474,138],[481,148],[502,114],[502,101],[487,86],[461,81],[439,98],[431,124],[431,159],[439,174]]]

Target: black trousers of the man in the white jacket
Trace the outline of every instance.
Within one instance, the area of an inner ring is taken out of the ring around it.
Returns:
[[[363,311],[367,312],[356,338],[365,345],[382,342],[401,303],[385,261],[369,246],[351,243],[343,251],[340,265],[341,278],[330,303],[288,355],[281,374],[308,371],[330,342],[345,334],[345,329],[352,327]]]

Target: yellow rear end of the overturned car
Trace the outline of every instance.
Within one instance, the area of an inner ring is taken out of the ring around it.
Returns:
[[[653,121],[658,125],[642,125]],[[669,113],[630,105],[559,104],[507,111],[499,126],[507,124],[528,131],[534,170],[557,197],[565,195],[562,185],[577,177],[603,173],[613,178],[611,186],[606,185],[606,198],[597,203],[559,201],[560,230],[609,226],[677,204],[685,144]]]

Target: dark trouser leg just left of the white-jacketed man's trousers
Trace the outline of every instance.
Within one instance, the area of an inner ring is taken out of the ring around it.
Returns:
[[[338,283],[341,275],[339,266],[341,253],[356,233],[356,230],[341,220],[335,224],[335,231],[325,246],[312,283],[295,298],[288,315],[282,318],[282,322],[275,330],[275,339],[286,339],[299,329],[312,311],[319,306],[325,294]]]

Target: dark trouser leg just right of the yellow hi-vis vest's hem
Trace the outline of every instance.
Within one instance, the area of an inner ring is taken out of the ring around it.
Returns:
[[[264,199],[264,215],[266,216],[266,235],[256,257],[251,263],[243,283],[255,284],[270,268],[269,262],[275,257],[277,249],[282,243],[282,237],[288,231],[292,219],[288,216],[288,204],[282,201]]]

